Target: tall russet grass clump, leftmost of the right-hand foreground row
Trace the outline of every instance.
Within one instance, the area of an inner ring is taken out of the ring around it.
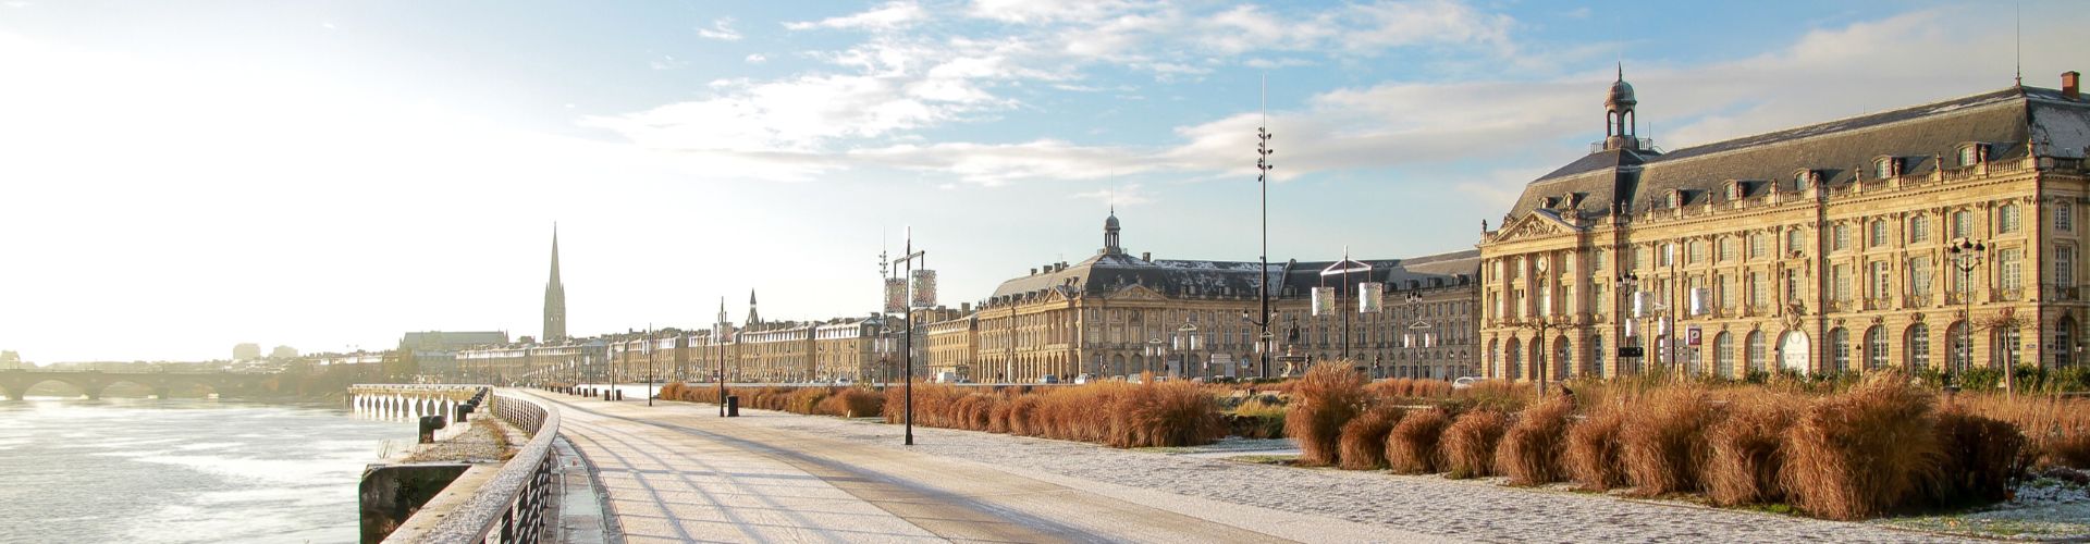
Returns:
[[[1350,362],[1323,362],[1306,370],[1306,377],[1292,385],[1292,404],[1285,410],[1285,435],[1300,444],[1298,462],[1336,464],[1342,425],[1363,412],[1365,402],[1365,375],[1352,370]]]

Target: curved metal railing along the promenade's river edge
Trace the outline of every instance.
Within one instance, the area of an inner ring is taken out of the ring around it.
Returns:
[[[543,511],[552,504],[554,469],[558,469],[558,458],[552,454],[558,408],[510,393],[493,393],[491,400],[493,414],[529,431],[531,439],[422,542],[548,540]]]

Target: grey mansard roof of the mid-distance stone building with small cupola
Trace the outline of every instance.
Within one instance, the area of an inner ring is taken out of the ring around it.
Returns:
[[[1392,282],[1394,289],[1409,289],[1411,280],[1417,287],[1450,287],[1461,282],[1471,282],[1476,270],[1480,270],[1480,251],[1455,251],[1442,255],[1425,255],[1411,259],[1361,259],[1371,264],[1371,274],[1356,272],[1350,276],[1352,282]],[[1112,295],[1127,287],[1143,287],[1166,297],[1254,297],[1260,280],[1271,280],[1275,287],[1271,297],[1281,297],[1283,287],[1294,287],[1296,293],[1306,293],[1310,287],[1319,287],[1321,270],[1336,262],[1290,262],[1271,264],[1262,274],[1258,262],[1204,262],[1204,259],[1139,259],[1124,253],[1106,253],[1089,257],[1081,264],[1060,264],[1051,270],[1041,270],[1039,274],[1028,274],[1001,282],[995,295],[986,299],[989,305],[1024,301],[1032,297],[1081,297],[1081,295]],[[1340,278],[1329,278],[1325,285],[1336,287]]]

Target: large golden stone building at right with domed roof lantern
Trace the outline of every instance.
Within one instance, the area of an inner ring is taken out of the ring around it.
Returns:
[[[1634,134],[1634,107],[1620,77],[1605,140],[1484,232],[1488,377],[2080,360],[2073,71],[1676,151]]]

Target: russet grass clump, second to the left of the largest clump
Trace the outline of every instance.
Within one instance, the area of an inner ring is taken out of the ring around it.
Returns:
[[[1643,496],[1701,490],[1699,475],[1712,456],[1705,429],[1720,421],[1720,406],[1695,385],[1657,389],[1626,412],[1618,429],[1626,479]]]

